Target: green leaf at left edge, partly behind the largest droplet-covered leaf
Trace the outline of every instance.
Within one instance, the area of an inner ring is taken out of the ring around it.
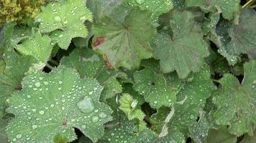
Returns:
[[[25,72],[35,63],[32,56],[23,56],[17,54],[14,49],[8,47],[3,55],[3,64],[1,64],[0,72],[0,111],[4,111],[6,107],[6,99],[13,92],[22,89],[21,82]]]

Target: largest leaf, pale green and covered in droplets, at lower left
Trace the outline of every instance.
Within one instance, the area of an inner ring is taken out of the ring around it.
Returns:
[[[79,79],[74,69],[59,66],[50,74],[24,77],[23,89],[10,99],[15,118],[6,132],[10,142],[52,143],[57,136],[76,139],[74,128],[96,142],[111,120],[111,109],[99,102],[103,87],[94,79]]]

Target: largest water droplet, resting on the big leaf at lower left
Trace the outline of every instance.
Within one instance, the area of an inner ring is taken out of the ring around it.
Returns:
[[[90,97],[84,97],[81,102],[78,102],[78,108],[81,109],[81,112],[91,113],[94,110],[94,104]]]

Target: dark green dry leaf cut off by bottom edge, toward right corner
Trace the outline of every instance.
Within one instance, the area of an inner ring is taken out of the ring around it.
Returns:
[[[237,137],[229,134],[227,132],[226,127],[219,127],[218,130],[216,129],[210,129],[208,137],[206,139],[207,143],[236,143]]]

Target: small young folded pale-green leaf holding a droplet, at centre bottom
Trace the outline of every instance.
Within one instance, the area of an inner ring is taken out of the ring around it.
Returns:
[[[128,117],[129,120],[140,119],[142,121],[145,117],[141,109],[136,109],[138,101],[132,98],[130,94],[123,94],[119,99],[119,109],[121,109]]]

